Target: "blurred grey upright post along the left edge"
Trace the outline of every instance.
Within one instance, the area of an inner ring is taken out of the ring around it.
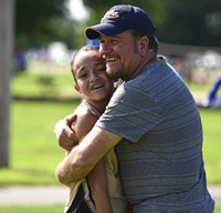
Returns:
[[[14,0],[0,0],[0,168],[9,165],[10,79],[13,65]]]

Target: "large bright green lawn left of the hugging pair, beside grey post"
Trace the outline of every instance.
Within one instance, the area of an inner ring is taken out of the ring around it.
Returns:
[[[0,185],[59,184],[55,166],[65,155],[53,128],[78,102],[13,101],[11,105],[10,168],[0,170]]]

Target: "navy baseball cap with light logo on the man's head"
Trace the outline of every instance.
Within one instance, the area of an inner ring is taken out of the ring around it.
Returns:
[[[134,6],[118,4],[110,8],[101,20],[99,24],[85,29],[87,39],[97,39],[99,34],[113,37],[126,30],[134,29],[155,34],[155,26],[147,13]]]

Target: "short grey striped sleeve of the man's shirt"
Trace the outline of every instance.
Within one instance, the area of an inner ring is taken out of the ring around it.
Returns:
[[[124,83],[116,90],[96,125],[137,142],[158,122],[154,102],[147,91]]]

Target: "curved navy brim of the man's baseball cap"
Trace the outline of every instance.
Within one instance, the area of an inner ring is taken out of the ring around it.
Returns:
[[[126,30],[129,30],[129,29],[119,27],[119,26],[115,26],[112,23],[99,23],[99,24],[86,28],[85,36],[87,37],[87,39],[98,39],[99,34],[104,34],[107,37],[114,37]]]

